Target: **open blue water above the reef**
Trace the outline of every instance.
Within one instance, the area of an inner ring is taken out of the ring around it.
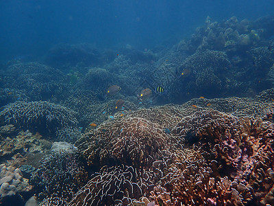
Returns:
[[[42,56],[57,43],[137,49],[173,45],[207,16],[213,21],[272,14],[274,1],[0,1],[0,61]]]

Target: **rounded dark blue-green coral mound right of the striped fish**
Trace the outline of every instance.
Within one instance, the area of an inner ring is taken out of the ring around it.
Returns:
[[[179,67],[179,74],[171,84],[169,99],[178,102],[203,93],[209,97],[227,93],[234,87],[232,73],[228,72],[229,64],[225,52],[207,50],[192,54]]]

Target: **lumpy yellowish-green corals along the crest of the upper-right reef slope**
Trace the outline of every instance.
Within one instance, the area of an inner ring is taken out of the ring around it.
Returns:
[[[207,18],[203,27],[198,27],[188,42],[182,42],[178,49],[187,49],[190,54],[196,50],[213,49],[225,52],[236,52],[250,48],[259,41],[269,38],[273,31],[266,29],[266,25],[273,25],[273,16],[266,16],[264,23],[259,20],[253,22],[247,19],[238,21],[236,16],[223,22],[212,22]],[[267,32],[266,32],[267,30]]]

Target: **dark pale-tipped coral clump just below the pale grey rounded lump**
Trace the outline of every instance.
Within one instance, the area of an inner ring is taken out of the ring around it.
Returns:
[[[30,183],[42,200],[39,205],[67,205],[86,179],[87,173],[79,165],[75,150],[59,150],[42,159]]]

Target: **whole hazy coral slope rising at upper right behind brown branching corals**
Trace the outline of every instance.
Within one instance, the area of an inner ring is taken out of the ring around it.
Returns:
[[[264,20],[266,25],[273,25],[273,16]],[[220,23],[212,22],[208,17],[206,24],[197,28],[190,41],[182,40],[173,48],[190,56],[176,64],[179,74],[169,89],[171,102],[179,100],[177,103],[181,103],[204,93],[210,98],[254,97],[258,92],[271,88],[274,51],[269,37],[274,33],[263,23],[261,26],[247,19],[238,21],[235,16]],[[207,58],[210,62],[219,62],[219,65],[212,65]],[[188,75],[180,76],[184,71],[188,71]]]

